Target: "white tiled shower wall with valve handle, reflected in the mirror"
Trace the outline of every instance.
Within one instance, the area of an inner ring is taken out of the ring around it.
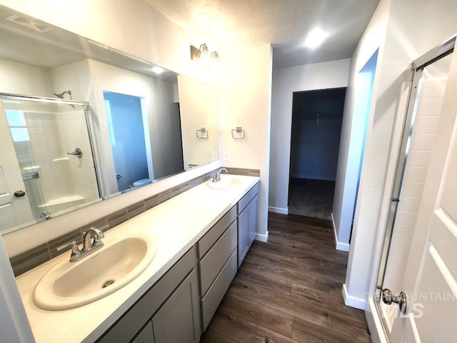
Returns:
[[[19,163],[24,173],[39,172],[37,182],[41,184],[44,198],[39,203],[60,202],[71,197],[74,198],[71,206],[76,206],[98,199],[94,161],[82,107],[71,109],[68,105],[42,104],[36,109],[31,109],[30,104],[24,104],[24,107],[30,142],[21,144]],[[83,151],[82,159],[67,154],[76,147]],[[27,167],[32,170],[24,169]],[[47,207],[47,211],[53,214],[64,207]],[[44,208],[39,209],[39,212],[43,211]]]

